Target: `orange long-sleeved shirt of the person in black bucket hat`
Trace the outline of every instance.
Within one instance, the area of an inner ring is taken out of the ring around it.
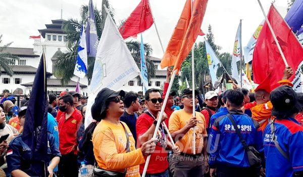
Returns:
[[[143,154],[140,148],[135,148],[135,140],[128,126],[121,123],[129,135],[130,152],[126,153],[127,139],[122,124],[101,120],[92,135],[95,159],[100,168],[120,172],[127,168],[126,177],[140,176],[139,164],[145,162]]]

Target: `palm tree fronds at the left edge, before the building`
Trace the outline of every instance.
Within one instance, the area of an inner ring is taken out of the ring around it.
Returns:
[[[5,52],[8,47],[11,46],[13,42],[7,43],[6,45],[2,46],[2,34],[0,35],[0,75],[1,75],[1,68],[5,70],[5,72],[9,76],[13,76],[14,71],[9,66],[10,64],[15,64],[15,60],[19,60],[18,56],[12,55],[9,52]]]

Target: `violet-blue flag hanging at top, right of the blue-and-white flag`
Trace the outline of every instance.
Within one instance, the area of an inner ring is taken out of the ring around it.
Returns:
[[[98,35],[93,12],[92,0],[89,0],[89,17],[86,25],[86,46],[88,57],[96,57],[98,48]]]

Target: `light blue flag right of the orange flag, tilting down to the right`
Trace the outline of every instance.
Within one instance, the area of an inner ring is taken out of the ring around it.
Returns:
[[[207,40],[205,40],[205,48],[206,48],[206,55],[207,55],[206,57],[210,69],[212,83],[213,86],[215,86],[215,82],[217,81],[218,64],[220,63],[220,61]]]

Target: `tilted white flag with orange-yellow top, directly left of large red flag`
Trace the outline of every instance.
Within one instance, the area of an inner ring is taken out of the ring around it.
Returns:
[[[259,37],[259,34],[261,32],[261,29],[263,27],[264,20],[261,22],[261,24],[258,26],[254,34],[252,34],[251,38],[249,39],[247,46],[243,48],[243,54],[244,54],[244,62],[248,63],[252,60],[252,55],[254,54],[254,50],[256,47],[257,39]]]

